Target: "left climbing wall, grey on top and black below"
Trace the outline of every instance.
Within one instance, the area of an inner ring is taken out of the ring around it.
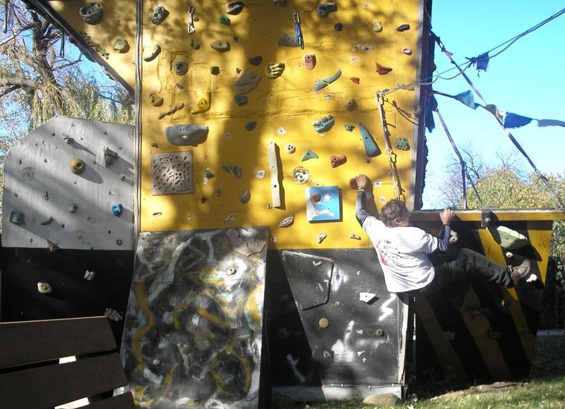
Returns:
[[[133,127],[57,116],[4,162],[1,320],[107,315],[133,268]]]

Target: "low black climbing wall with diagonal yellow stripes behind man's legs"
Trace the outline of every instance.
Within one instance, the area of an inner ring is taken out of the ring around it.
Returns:
[[[468,385],[529,377],[552,224],[564,212],[486,213],[457,212],[451,225],[458,233],[453,246],[470,248],[502,265],[530,260],[533,275],[514,288],[472,279],[440,294],[417,297],[416,361],[422,382]],[[441,228],[438,216],[423,212],[413,214],[412,221],[432,233]]]

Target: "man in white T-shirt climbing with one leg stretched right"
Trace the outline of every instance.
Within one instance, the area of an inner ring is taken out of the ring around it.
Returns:
[[[380,219],[367,211],[372,199],[372,184],[366,175],[355,178],[357,199],[355,216],[371,239],[384,274],[386,288],[399,296],[433,293],[459,281],[463,276],[479,276],[506,287],[513,287],[530,274],[530,262],[505,267],[469,249],[448,250],[453,211],[439,214],[443,224],[438,237],[409,226],[410,213],[400,200],[388,201]]]

